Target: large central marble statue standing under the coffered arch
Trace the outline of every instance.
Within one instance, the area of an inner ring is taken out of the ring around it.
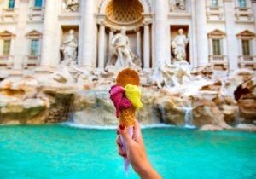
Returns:
[[[140,60],[137,58],[137,55],[131,51],[125,27],[122,27],[121,32],[113,37],[111,44],[114,48],[114,55],[110,57],[106,67],[107,69],[109,66],[114,66],[117,69],[126,67],[140,68]]]

